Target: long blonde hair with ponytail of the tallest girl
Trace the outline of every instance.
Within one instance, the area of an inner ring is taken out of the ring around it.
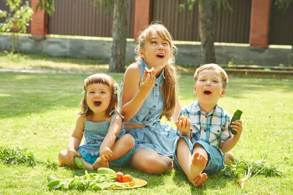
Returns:
[[[177,54],[177,47],[173,44],[173,38],[167,28],[159,23],[152,22],[150,25],[147,25],[146,28],[140,32],[139,37],[137,38],[137,44],[135,48],[135,60],[143,60],[140,56],[139,50],[144,49],[146,41],[150,42],[150,39],[153,38],[153,34],[157,33],[162,39],[166,39],[169,42],[171,48],[170,58],[164,67],[165,81],[163,83],[163,97],[164,97],[164,108],[160,115],[160,119],[165,116],[167,120],[173,115],[175,106],[176,106],[176,88],[178,82],[178,73],[175,69],[175,56]]]

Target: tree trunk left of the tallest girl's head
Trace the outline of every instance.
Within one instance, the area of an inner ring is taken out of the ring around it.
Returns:
[[[124,73],[127,38],[127,0],[114,0],[113,4],[113,42],[109,72]]]

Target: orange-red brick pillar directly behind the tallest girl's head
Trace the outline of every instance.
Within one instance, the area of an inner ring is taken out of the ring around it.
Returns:
[[[136,40],[143,27],[150,23],[151,0],[135,0],[133,35]]]

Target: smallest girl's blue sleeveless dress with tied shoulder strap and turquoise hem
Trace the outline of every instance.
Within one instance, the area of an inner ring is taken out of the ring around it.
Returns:
[[[120,115],[120,113],[117,110],[114,110],[110,113],[110,115],[112,115],[111,118],[113,117],[112,124],[114,123],[117,114]],[[100,156],[100,146],[102,142],[104,141],[105,136],[108,133],[111,118],[103,122],[91,122],[91,121],[85,120],[84,133],[83,133],[84,142],[83,144],[79,146],[77,151],[79,151],[82,154],[86,162],[93,164],[96,161],[96,159]],[[125,135],[125,130],[121,128],[120,133],[116,138],[116,141],[124,135]],[[134,153],[134,147],[132,151],[127,153],[125,156],[122,156],[119,159],[110,161],[109,165],[124,166],[129,162],[130,157],[133,155],[133,153]]]

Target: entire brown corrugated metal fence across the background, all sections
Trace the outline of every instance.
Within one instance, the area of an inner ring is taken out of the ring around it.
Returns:
[[[22,0],[24,2],[25,0]],[[272,0],[269,44],[293,45],[293,5],[286,11]],[[30,0],[29,0],[30,2]],[[198,4],[193,12],[179,12],[179,4],[186,0],[152,0],[151,20],[161,20],[175,40],[200,41],[198,31]],[[228,0],[232,12],[223,7],[214,11],[216,42],[249,43],[251,0]],[[55,0],[55,12],[48,17],[48,34],[112,37],[112,15],[100,6],[97,12],[92,0]],[[7,10],[5,0],[0,9]],[[133,38],[135,0],[128,0],[127,37]],[[0,18],[0,22],[5,19]],[[30,33],[30,26],[27,33]]]

